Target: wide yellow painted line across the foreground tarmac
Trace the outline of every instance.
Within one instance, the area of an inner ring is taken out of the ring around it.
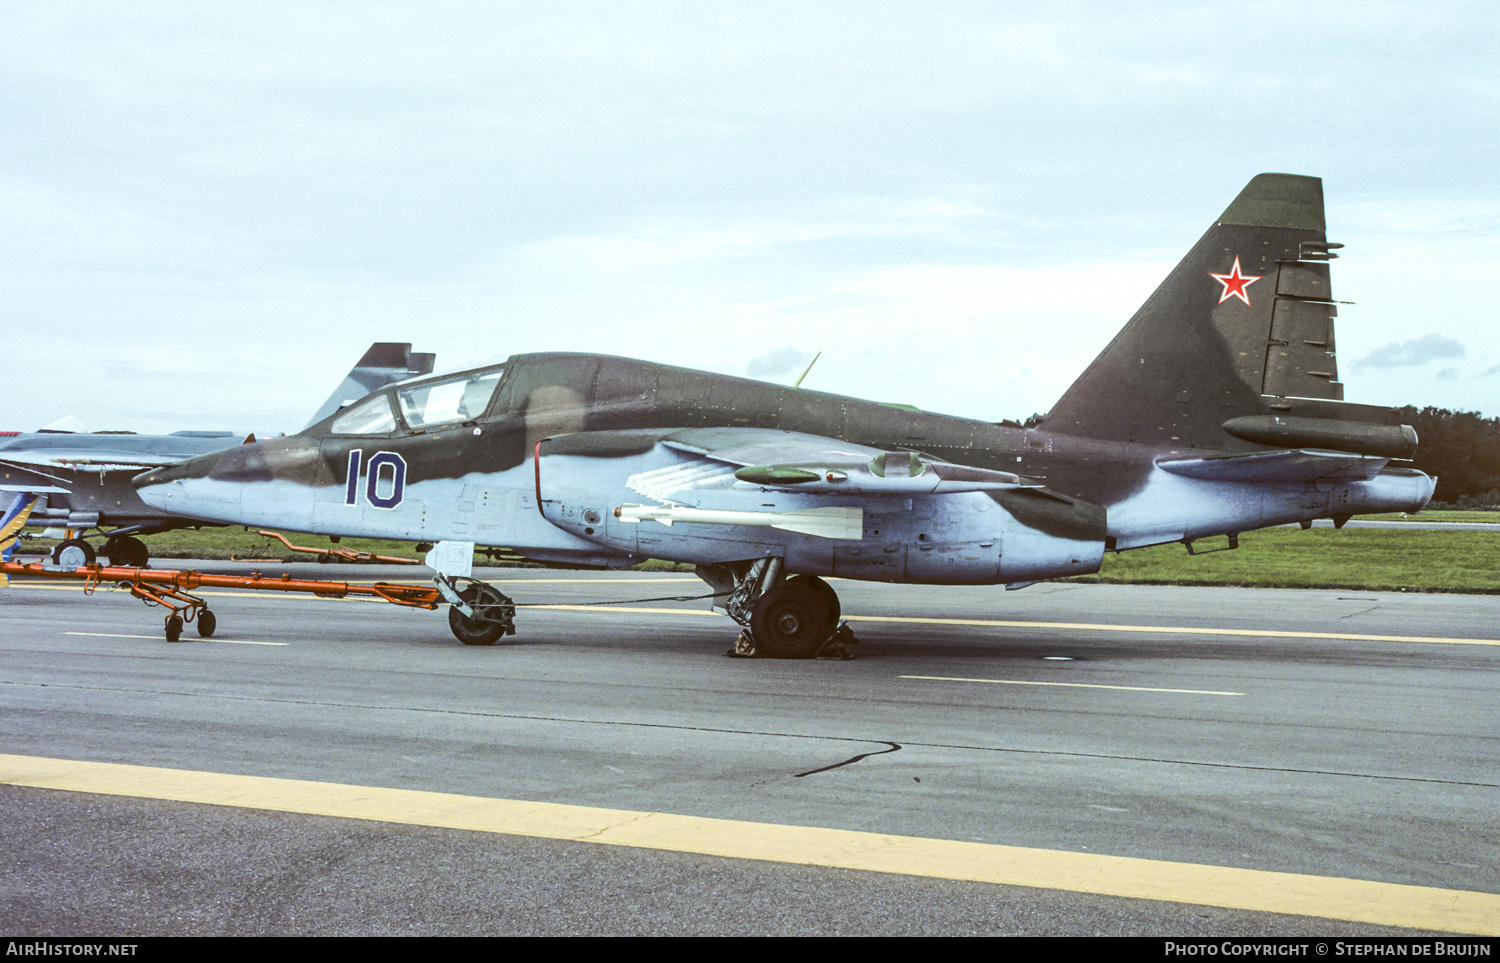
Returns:
[[[1036,886],[1444,933],[1500,932],[1497,894],[1364,879],[33,756],[0,754],[0,783]]]

